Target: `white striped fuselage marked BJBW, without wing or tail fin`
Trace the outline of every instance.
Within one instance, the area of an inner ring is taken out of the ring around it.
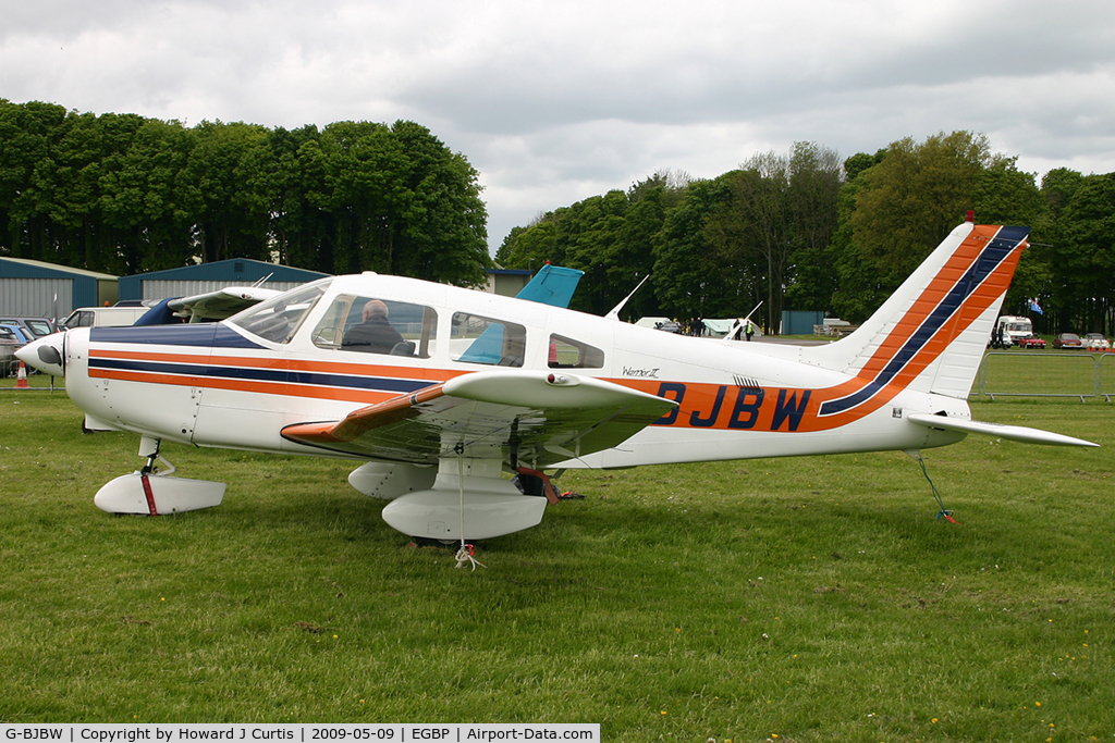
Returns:
[[[340,276],[311,286],[294,297],[304,307],[287,310],[283,334],[253,325],[253,311],[211,324],[70,331],[67,391],[105,428],[316,456],[343,454],[289,441],[282,429],[340,420],[492,369],[568,371],[678,403],[621,446],[563,467],[920,449],[963,434],[911,424],[904,412],[968,416],[962,400],[899,384],[823,414],[826,401],[846,399],[863,381],[758,343],[676,336],[397,276]],[[392,316],[406,315],[409,353],[345,344],[360,304],[371,300],[389,305]]]

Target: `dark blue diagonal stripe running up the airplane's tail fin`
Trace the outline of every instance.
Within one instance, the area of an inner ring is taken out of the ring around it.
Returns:
[[[894,358],[883,368],[875,379],[869,382],[863,389],[837,400],[828,400],[821,403],[818,416],[832,416],[851,410],[857,404],[870,400],[881,389],[890,384],[902,369],[921,351],[930,339],[937,334],[946,322],[963,305],[983,281],[1002,263],[1008,255],[1018,246],[1026,235],[1028,227],[1002,227],[998,234],[988,243],[972,265],[964,272],[964,275],[949,290],[949,293],[925,317],[925,321],[910,336],[902,348],[899,349]]]

